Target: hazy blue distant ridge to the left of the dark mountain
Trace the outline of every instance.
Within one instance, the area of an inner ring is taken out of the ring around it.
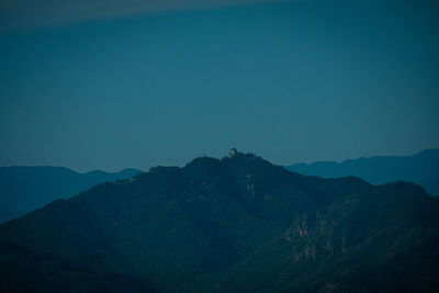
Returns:
[[[0,167],[0,223],[22,216],[58,199],[95,184],[132,178],[140,171],[78,173],[61,167]]]

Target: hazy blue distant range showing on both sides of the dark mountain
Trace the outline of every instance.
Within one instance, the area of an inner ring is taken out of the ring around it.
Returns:
[[[372,184],[398,180],[424,187],[439,195],[439,149],[427,149],[413,156],[375,156],[313,164],[294,164],[288,170],[306,176],[337,178],[356,176]],[[0,167],[0,223],[22,216],[58,199],[68,199],[89,188],[117,179],[130,179],[143,171],[100,170],[78,173],[63,167]]]

